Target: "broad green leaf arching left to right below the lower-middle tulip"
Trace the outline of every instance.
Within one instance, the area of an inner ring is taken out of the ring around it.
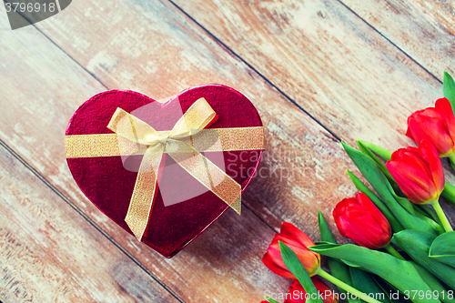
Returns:
[[[419,272],[410,262],[399,260],[387,253],[352,244],[324,244],[308,248],[324,256],[355,262],[362,269],[368,270],[380,278],[389,281],[391,285],[403,293],[413,289],[419,289],[423,292],[431,291],[430,287],[420,278]],[[440,302],[440,300],[434,298],[414,298],[412,302],[430,303]]]

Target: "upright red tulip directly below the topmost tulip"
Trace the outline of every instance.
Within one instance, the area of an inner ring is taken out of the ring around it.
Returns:
[[[419,148],[400,148],[386,166],[410,202],[429,204],[439,199],[444,189],[444,171],[438,151],[429,141],[420,141]]]

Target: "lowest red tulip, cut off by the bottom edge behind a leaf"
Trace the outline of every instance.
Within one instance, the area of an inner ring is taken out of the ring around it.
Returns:
[[[337,295],[330,289],[319,277],[312,277],[311,280],[313,281],[314,286],[319,291],[319,296],[322,298],[324,303],[337,303],[339,300]],[[307,298],[305,295],[307,292],[305,289],[300,285],[298,280],[295,280],[290,285],[288,295],[286,295],[286,300],[284,303],[305,303]]]

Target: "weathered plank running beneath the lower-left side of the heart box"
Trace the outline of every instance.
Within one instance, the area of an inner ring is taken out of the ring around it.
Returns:
[[[273,230],[247,208],[242,217],[234,212],[221,217],[194,244],[171,260],[137,243],[134,237],[107,220],[74,184],[66,167],[63,145],[66,124],[73,111],[86,98],[103,90],[103,86],[37,31],[27,29],[11,35],[6,32],[2,38],[5,47],[0,53],[10,61],[0,66],[3,83],[0,102],[5,119],[0,126],[0,137],[71,197],[95,224],[188,302],[225,301],[227,298],[259,301],[266,289],[288,288],[288,280],[268,272],[260,261],[274,235]],[[234,68],[233,65],[228,67]],[[177,69],[173,73],[177,73]],[[24,78],[29,84],[27,87],[24,87]],[[172,79],[167,81],[170,86]],[[254,83],[254,80],[248,81]],[[270,93],[267,88],[263,88],[263,92],[271,94],[267,96],[270,101],[277,102],[276,92]],[[277,114],[293,108],[282,100],[279,102],[285,106],[279,108]],[[293,115],[303,120],[300,125],[306,123],[302,115]]]

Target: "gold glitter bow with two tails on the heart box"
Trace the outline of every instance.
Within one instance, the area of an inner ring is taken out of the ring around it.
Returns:
[[[125,218],[139,241],[153,209],[157,174],[164,153],[240,214],[240,185],[200,153],[205,150],[197,150],[193,145],[192,137],[215,117],[216,113],[206,99],[200,98],[178,119],[170,132],[157,132],[136,116],[121,108],[116,109],[107,127],[116,133],[121,156],[137,155],[138,150],[144,150],[146,146]]]

